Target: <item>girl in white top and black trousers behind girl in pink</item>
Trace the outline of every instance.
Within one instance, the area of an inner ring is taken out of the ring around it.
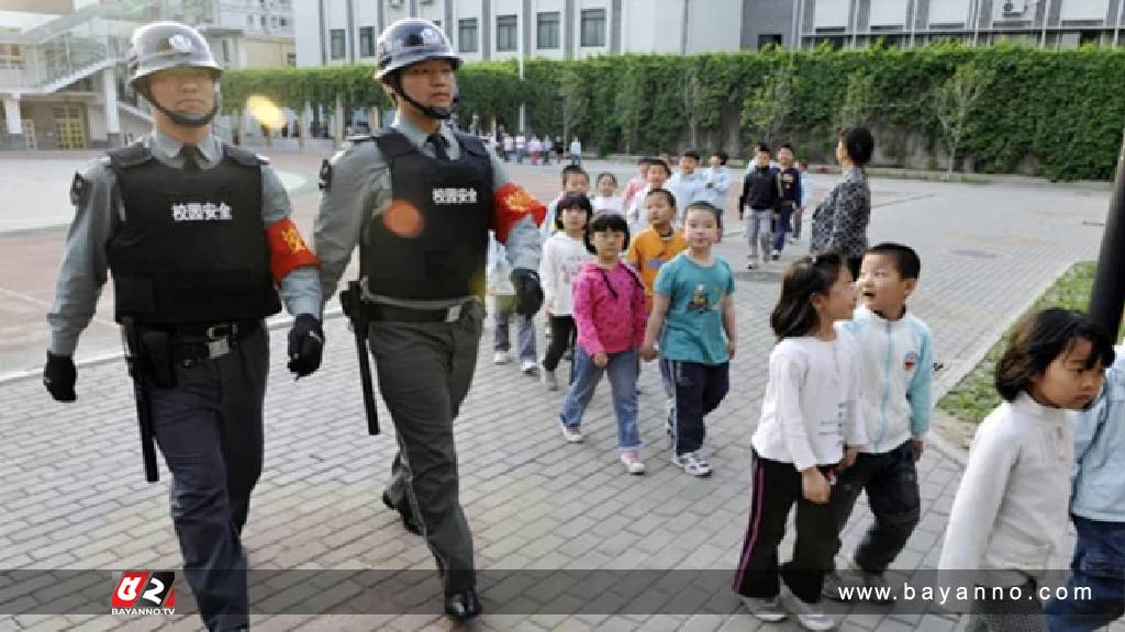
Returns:
[[[543,308],[551,327],[551,342],[543,356],[542,380],[547,390],[558,390],[555,370],[559,359],[574,338],[572,292],[578,271],[593,255],[586,251],[583,235],[593,215],[590,198],[583,193],[568,193],[559,200],[555,217],[557,233],[543,242],[539,261],[539,279],[543,286]]]

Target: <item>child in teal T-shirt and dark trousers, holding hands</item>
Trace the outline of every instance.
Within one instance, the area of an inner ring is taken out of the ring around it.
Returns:
[[[711,252],[721,234],[718,208],[703,201],[687,206],[687,250],[660,267],[641,347],[641,356],[654,360],[659,337],[660,362],[675,382],[675,406],[668,414],[672,462],[693,476],[711,473],[700,453],[706,434],[703,417],[727,395],[737,338],[735,276],[730,264]]]

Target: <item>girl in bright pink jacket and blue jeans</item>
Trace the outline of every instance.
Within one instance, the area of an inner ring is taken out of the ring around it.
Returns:
[[[574,378],[562,401],[559,424],[570,443],[582,441],[582,415],[594,397],[602,373],[610,378],[613,412],[618,418],[618,450],[626,471],[645,472],[637,427],[638,355],[645,340],[645,287],[621,251],[629,243],[629,226],[615,213],[600,213],[586,231],[586,250],[597,256],[583,265],[574,281],[574,320],[578,344]]]

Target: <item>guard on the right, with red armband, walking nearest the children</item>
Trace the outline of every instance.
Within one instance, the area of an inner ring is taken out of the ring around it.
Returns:
[[[461,60],[441,29],[399,20],[377,56],[376,79],[398,111],[390,129],[350,139],[322,169],[321,285],[327,299],[358,244],[369,345],[399,448],[382,499],[426,539],[446,612],[470,619],[480,604],[453,419],[480,342],[488,233],[507,246],[516,309],[531,316],[542,304],[534,270],[546,209],[479,138],[448,125]]]

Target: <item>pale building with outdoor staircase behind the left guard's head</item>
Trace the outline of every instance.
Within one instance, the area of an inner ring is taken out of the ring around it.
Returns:
[[[152,128],[126,87],[129,37],[191,24],[226,69],[296,63],[292,0],[10,0],[0,4],[0,148],[114,147]]]

